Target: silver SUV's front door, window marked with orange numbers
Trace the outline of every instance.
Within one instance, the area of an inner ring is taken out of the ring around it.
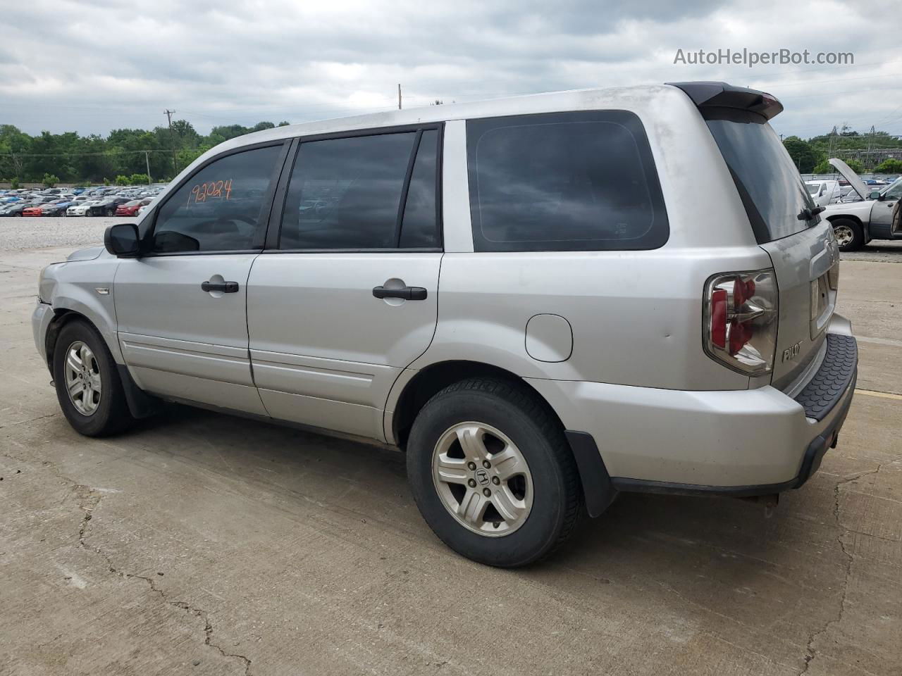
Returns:
[[[139,387],[265,415],[247,345],[247,279],[262,250],[282,144],[212,160],[161,202],[142,258],[114,282],[119,343]]]

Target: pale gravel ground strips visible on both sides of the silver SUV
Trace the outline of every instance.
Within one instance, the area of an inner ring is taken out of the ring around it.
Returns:
[[[110,218],[0,218],[0,251],[25,251],[71,246],[73,251],[101,244],[107,225],[135,219]],[[902,263],[902,241],[871,242],[861,251],[843,253],[842,260],[869,260],[875,263]]]

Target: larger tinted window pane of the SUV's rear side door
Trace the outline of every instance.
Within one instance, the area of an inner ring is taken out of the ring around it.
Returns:
[[[301,143],[280,249],[389,249],[416,132]]]

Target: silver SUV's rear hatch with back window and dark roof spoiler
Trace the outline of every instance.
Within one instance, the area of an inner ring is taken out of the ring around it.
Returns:
[[[824,343],[836,301],[839,249],[833,229],[815,213],[805,182],[768,123],[782,105],[763,92],[724,87],[701,102],[686,93],[699,106],[755,239],[773,264],[778,328],[771,384],[786,389]]]

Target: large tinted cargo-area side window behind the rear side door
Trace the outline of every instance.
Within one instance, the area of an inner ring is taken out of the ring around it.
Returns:
[[[624,111],[467,123],[476,251],[654,249],[667,215],[639,118]]]

